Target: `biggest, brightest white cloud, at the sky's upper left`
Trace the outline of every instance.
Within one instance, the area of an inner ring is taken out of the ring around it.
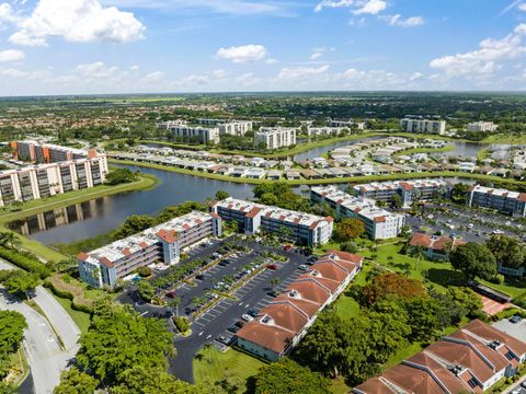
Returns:
[[[9,40],[31,46],[46,45],[48,37],[126,43],[142,38],[145,33],[133,13],[103,8],[99,0],[39,0],[31,15],[18,19],[15,25],[19,31]]]

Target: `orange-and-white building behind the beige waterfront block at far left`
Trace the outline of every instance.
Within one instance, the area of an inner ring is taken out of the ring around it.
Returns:
[[[76,159],[103,157],[94,149],[76,149],[61,147],[54,143],[41,143],[37,141],[11,141],[10,147],[13,150],[16,160],[27,161],[38,164],[58,163]]]

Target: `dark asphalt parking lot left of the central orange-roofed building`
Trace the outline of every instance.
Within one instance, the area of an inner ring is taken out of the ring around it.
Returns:
[[[194,258],[206,258],[216,253],[221,247],[222,243],[214,243],[209,247],[198,247],[194,251]],[[230,263],[226,266],[215,265],[213,268],[203,274],[201,280],[194,279],[192,283],[183,283],[175,289],[173,297],[181,299],[179,308],[180,315],[191,317],[193,315],[193,300],[196,297],[202,297],[205,293],[214,292],[214,287],[221,281],[226,275],[235,276],[243,269],[248,264],[254,262],[265,252],[278,253],[288,258],[287,263],[271,264],[275,269],[265,268],[266,265],[261,266],[250,277],[250,279],[242,280],[242,286],[235,291],[228,292],[228,297],[220,293],[217,298],[218,302],[205,313],[195,316],[192,322],[192,335],[188,337],[176,336],[174,345],[178,349],[175,359],[170,360],[170,372],[178,378],[193,382],[192,362],[195,354],[207,343],[213,344],[218,349],[225,349],[226,344],[232,340],[235,333],[235,324],[241,325],[243,314],[252,311],[259,312],[266,306],[273,299],[270,294],[273,290],[284,290],[290,282],[298,278],[304,271],[298,267],[305,265],[308,260],[304,256],[294,251],[284,252],[276,248],[268,248],[260,243],[251,242],[248,244],[251,250],[250,253],[238,253],[238,258],[227,257]],[[261,258],[261,257],[260,257]],[[162,274],[160,274],[162,275]],[[278,278],[278,279],[276,279]],[[278,280],[278,283],[271,283],[271,281]],[[170,317],[171,311],[162,306],[153,306],[137,302],[137,296],[134,290],[128,290],[121,298],[121,301],[134,304],[136,311],[146,317]],[[229,331],[229,328],[231,331]]]

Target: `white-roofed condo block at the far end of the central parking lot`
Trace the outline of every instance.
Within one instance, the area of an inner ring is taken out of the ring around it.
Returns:
[[[214,202],[211,211],[226,221],[236,221],[247,234],[268,232],[299,244],[317,246],[332,236],[333,219],[291,211],[229,197]]]

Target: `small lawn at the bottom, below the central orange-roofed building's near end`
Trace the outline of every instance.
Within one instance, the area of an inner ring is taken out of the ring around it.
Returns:
[[[236,349],[221,352],[213,347],[209,352],[208,350],[199,351],[194,359],[194,380],[206,386],[211,386],[226,376],[236,376],[245,381],[255,375],[263,366],[265,366],[263,361]],[[244,385],[240,393],[244,391]]]

